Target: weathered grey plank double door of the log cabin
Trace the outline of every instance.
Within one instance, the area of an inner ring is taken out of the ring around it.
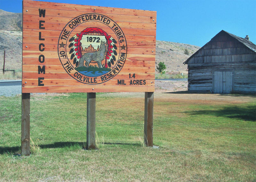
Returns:
[[[231,93],[233,90],[232,71],[214,71],[213,91],[214,93]]]

